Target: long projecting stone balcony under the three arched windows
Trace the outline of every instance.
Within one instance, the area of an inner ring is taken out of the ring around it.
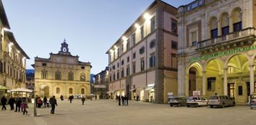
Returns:
[[[231,32],[224,36],[211,38],[208,40],[202,40],[197,44],[197,50],[208,50],[213,47],[219,47],[220,45],[231,45],[238,42],[251,42],[256,38],[255,28],[249,27],[247,29],[242,29],[239,32]]]

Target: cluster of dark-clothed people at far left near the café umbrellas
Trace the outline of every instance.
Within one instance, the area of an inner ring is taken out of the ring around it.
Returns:
[[[10,97],[9,101],[7,103],[7,98],[5,98],[5,96],[3,96],[1,98],[1,105],[2,105],[1,110],[7,110],[7,107],[6,107],[7,104],[9,104],[11,111],[14,110],[14,104],[15,104],[15,112],[17,112],[17,111],[20,112],[20,109],[21,109],[21,111],[23,112],[23,115],[27,114],[27,108],[28,108],[27,98],[25,98],[25,97],[24,98]]]

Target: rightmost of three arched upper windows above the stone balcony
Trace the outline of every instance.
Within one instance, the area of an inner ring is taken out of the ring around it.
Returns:
[[[242,10],[237,8],[234,9],[232,13],[232,22],[234,32],[239,32],[242,30]]]

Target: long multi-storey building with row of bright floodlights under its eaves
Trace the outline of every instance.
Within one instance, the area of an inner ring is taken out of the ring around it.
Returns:
[[[111,98],[167,103],[177,93],[177,9],[155,0],[106,52]]]

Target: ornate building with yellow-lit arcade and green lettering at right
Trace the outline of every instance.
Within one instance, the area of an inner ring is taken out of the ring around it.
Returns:
[[[178,93],[229,95],[256,89],[256,1],[197,0],[178,9]]]

